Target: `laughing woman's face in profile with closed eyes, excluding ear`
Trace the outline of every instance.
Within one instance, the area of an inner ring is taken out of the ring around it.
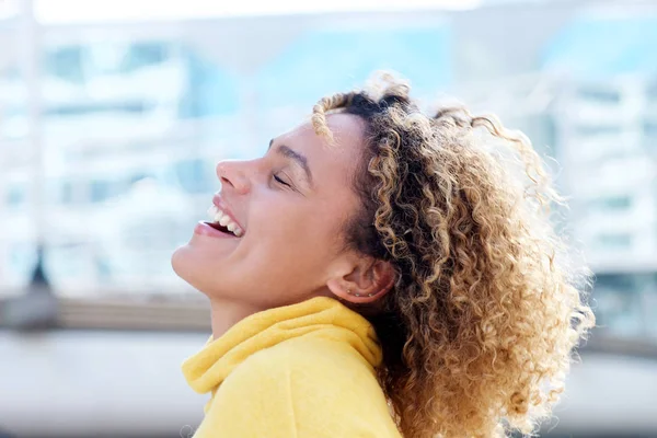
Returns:
[[[327,281],[353,268],[342,229],[359,208],[351,176],[364,146],[358,117],[334,114],[327,124],[335,145],[306,124],[273,139],[262,158],[217,165],[215,204],[243,234],[199,223],[173,254],[181,278],[210,299],[263,309],[330,295]]]

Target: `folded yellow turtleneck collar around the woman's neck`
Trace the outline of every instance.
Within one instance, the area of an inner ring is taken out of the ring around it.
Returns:
[[[316,297],[246,316],[189,357],[183,364],[183,374],[194,391],[207,393],[249,356],[301,336],[342,341],[372,367],[382,360],[374,330],[365,318],[335,299]]]

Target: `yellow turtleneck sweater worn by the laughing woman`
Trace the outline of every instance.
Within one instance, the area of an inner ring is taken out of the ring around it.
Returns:
[[[245,318],[183,365],[211,392],[196,438],[400,438],[374,367],[381,348],[331,298]]]

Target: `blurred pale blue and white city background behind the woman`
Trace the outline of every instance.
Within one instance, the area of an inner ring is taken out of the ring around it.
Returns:
[[[186,437],[215,164],[376,69],[525,130],[598,327],[545,437],[657,437],[657,1],[0,0],[0,436]]]

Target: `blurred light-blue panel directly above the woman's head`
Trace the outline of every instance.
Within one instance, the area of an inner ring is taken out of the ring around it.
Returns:
[[[311,105],[321,96],[362,87],[374,70],[395,70],[416,94],[451,82],[451,30],[318,31],[293,42],[257,74],[261,103]]]

